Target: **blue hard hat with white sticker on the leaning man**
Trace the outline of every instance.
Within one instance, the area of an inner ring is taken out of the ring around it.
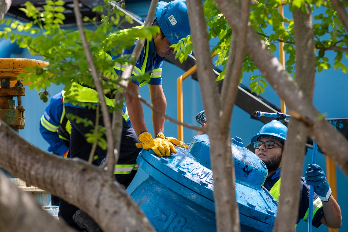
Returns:
[[[158,2],[156,17],[159,27],[171,44],[191,34],[186,1]]]

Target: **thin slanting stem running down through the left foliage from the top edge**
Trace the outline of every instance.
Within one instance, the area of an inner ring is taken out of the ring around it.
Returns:
[[[106,155],[106,162],[104,165],[104,171],[108,173],[108,175],[113,176],[113,170],[115,165],[115,157],[114,157],[114,143],[113,143],[113,134],[111,131],[111,120],[110,120],[110,114],[108,106],[106,106],[105,99],[104,99],[104,91],[102,84],[98,78],[97,69],[94,65],[94,61],[92,58],[92,54],[90,53],[88,43],[86,41],[85,33],[84,33],[84,27],[82,24],[82,16],[80,13],[80,7],[79,7],[79,1],[73,0],[74,3],[74,13],[76,18],[76,24],[80,32],[81,42],[85,50],[86,58],[88,60],[89,67],[91,69],[93,82],[95,84],[96,91],[98,92],[98,98],[101,102],[102,111],[103,111],[103,121],[106,131],[106,141],[108,143],[108,149],[107,149],[107,155]],[[120,135],[119,135],[120,136]]]

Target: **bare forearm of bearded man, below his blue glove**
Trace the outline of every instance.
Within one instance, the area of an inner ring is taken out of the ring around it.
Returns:
[[[330,228],[340,228],[342,225],[342,215],[337,201],[331,196],[329,201],[323,201],[322,203],[324,216],[320,222]]]

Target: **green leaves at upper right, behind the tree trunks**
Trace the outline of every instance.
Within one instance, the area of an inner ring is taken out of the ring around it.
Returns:
[[[283,49],[287,57],[285,70],[295,76],[296,54],[293,19],[287,19],[279,13],[278,8],[282,4],[282,0],[260,0],[258,2],[251,4],[249,17],[251,26],[259,33],[271,52],[278,51],[279,42],[284,42]],[[304,13],[308,12],[305,4],[309,4],[313,15],[315,15],[313,26],[317,51],[317,71],[322,72],[323,69],[329,69],[333,66],[334,69],[341,68],[342,72],[346,73],[347,67],[342,63],[342,58],[343,56],[348,58],[348,38],[337,13],[332,9],[331,2],[323,0],[286,0],[285,3],[290,11],[301,9]],[[343,4],[347,7],[346,1],[343,1]],[[284,7],[287,7],[286,5]],[[320,13],[323,10],[325,14]],[[209,39],[219,39],[213,47],[212,53],[217,55],[215,65],[222,66],[223,71],[217,78],[217,80],[221,80],[224,78],[232,31],[213,0],[204,2],[204,13],[208,25]],[[336,53],[334,60],[331,62],[326,56],[329,50],[333,50],[330,52]],[[278,56],[277,53],[276,56]],[[254,73],[257,69],[252,60],[246,56],[242,73]],[[251,75],[249,85],[251,90],[257,94],[264,92],[267,83],[263,79],[263,76],[260,74]]]

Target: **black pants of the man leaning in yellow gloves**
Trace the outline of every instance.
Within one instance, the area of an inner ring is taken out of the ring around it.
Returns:
[[[92,122],[95,122],[96,112],[92,109],[80,109],[75,107],[65,106],[66,114],[77,115],[81,118],[87,118]],[[110,114],[112,118],[112,114]],[[68,117],[69,118],[69,117]],[[123,119],[123,118],[122,118]],[[78,157],[84,160],[88,160],[89,153],[92,149],[92,144],[86,141],[85,134],[91,133],[93,129],[92,126],[85,127],[83,123],[76,123],[76,121],[70,120],[71,123],[71,134],[70,134],[70,157]],[[103,118],[100,117],[99,125],[104,125]],[[104,137],[105,139],[105,137]],[[135,146],[135,143],[140,143],[133,128],[128,125],[128,123],[123,119],[123,130],[121,137],[121,146],[120,146],[120,156],[117,164],[135,164],[136,157],[141,151],[140,148]],[[103,150],[101,147],[97,146],[96,154],[99,158],[93,162],[95,165],[100,165],[102,160],[106,156],[106,150]],[[135,176],[136,170],[133,170],[129,174],[117,174],[115,175],[116,180],[125,185],[127,188],[130,182],[132,182]],[[59,204],[59,216],[64,219],[70,226],[75,229],[82,231],[80,227],[73,221],[72,215],[78,210],[77,207],[69,204],[68,202],[60,199]]]

